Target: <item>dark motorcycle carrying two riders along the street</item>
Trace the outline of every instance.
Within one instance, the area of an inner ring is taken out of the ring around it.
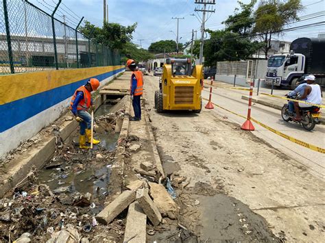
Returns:
[[[289,99],[296,99],[297,97],[289,97]],[[289,100],[288,100],[289,101]],[[289,105],[285,104],[282,107],[281,110],[281,116],[282,119],[286,122],[294,121],[295,123],[298,123],[304,127],[307,131],[311,131],[314,129],[316,124],[320,123],[320,107],[317,106],[311,106],[311,107],[299,107],[299,112],[301,115],[302,120],[294,120],[296,116],[296,112],[293,112],[293,114],[289,113]]]

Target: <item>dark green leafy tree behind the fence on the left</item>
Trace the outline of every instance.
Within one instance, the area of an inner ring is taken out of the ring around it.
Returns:
[[[123,49],[123,46],[132,40],[132,34],[136,29],[137,23],[129,26],[119,25],[118,23],[104,22],[104,26],[99,28],[88,21],[79,30],[100,44],[110,47],[110,49]]]

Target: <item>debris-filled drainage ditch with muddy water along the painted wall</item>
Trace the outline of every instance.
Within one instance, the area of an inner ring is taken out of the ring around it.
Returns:
[[[57,139],[51,160],[0,200],[0,242],[16,240],[23,233],[32,241],[45,242],[53,232],[69,227],[82,232],[80,238],[104,232],[94,216],[115,189],[110,175],[125,114],[118,101],[106,101],[95,112],[94,137],[101,143],[93,152],[78,148],[79,129],[69,142]],[[119,225],[112,225],[106,234],[114,239],[119,230]]]

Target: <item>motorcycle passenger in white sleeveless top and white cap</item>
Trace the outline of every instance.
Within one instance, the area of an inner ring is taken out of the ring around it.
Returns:
[[[315,76],[309,75],[305,79],[306,79],[308,85],[306,85],[304,87],[304,94],[299,99],[302,101],[306,101],[308,103],[320,105],[322,103],[323,95],[322,95],[322,90],[320,89],[320,86],[318,84],[314,84],[315,79],[316,79]],[[302,120],[302,118],[300,116],[299,108],[300,107],[312,107],[313,105],[295,102],[294,106],[295,106],[295,110],[296,110],[295,120],[300,121],[300,120]]]

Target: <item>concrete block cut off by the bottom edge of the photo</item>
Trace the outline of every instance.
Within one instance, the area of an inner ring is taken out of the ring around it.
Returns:
[[[138,202],[131,203],[126,218],[126,226],[123,242],[146,242],[147,215],[143,212]]]

